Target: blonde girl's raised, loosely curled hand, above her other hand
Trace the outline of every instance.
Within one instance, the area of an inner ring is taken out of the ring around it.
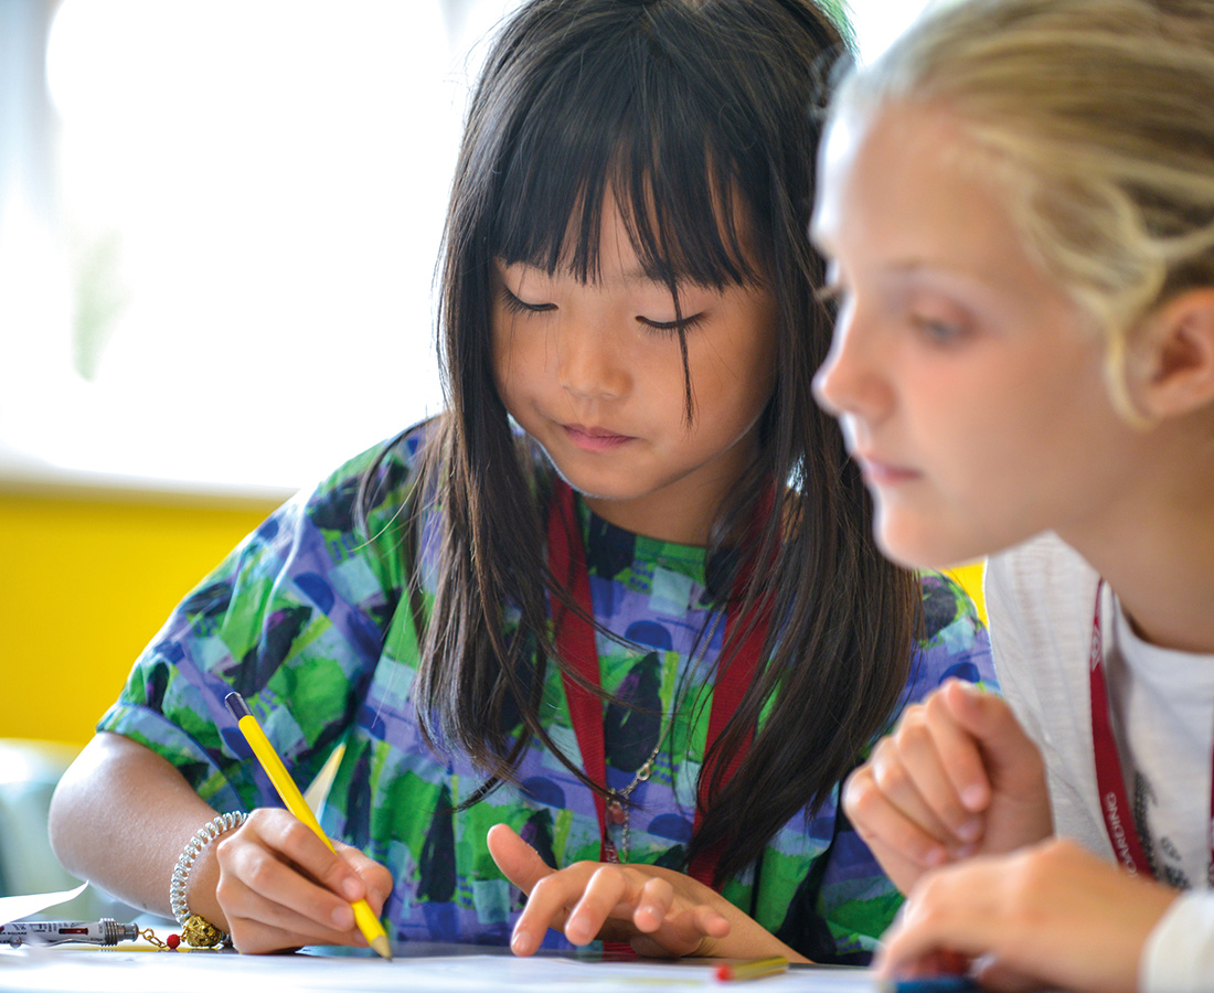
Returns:
[[[843,805],[902,892],[929,868],[1053,833],[1037,745],[1003,699],[958,680],[906,709]]]

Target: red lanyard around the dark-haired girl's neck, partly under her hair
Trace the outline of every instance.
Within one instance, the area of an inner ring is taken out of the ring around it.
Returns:
[[[552,503],[548,516],[548,562],[552,575],[557,580],[568,577],[573,600],[585,614],[566,611],[560,601],[552,605],[554,623],[556,626],[556,647],[561,658],[577,670],[578,675],[592,687],[601,687],[599,664],[599,647],[595,643],[595,628],[588,618],[594,617],[594,605],[590,598],[590,574],[586,569],[585,550],[582,546],[582,528],[578,523],[577,510],[573,503],[573,490],[563,481],[557,481],[554,487]],[[739,583],[741,585],[741,583]],[[731,645],[738,618],[732,612],[725,615],[725,643]],[[762,653],[762,646],[767,637],[770,609],[759,612],[755,623],[745,631],[741,648],[730,660],[728,666],[719,673],[716,685],[713,688],[713,709],[708,719],[708,739],[704,744],[705,753],[711,749],[726,722],[738,709],[742,696],[754,677]],[[586,776],[590,781],[606,785],[607,760],[603,749],[603,710],[602,698],[579,683],[567,671],[562,671],[565,682],[565,697],[569,707],[569,720],[573,722],[573,731],[578,736],[578,748],[582,751],[582,761]],[[750,748],[753,730],[747,732],[741,748],[725,762],[722,783],[728,782],[733,776],[747,750]],[[717,756],[716,761],[720,761]],[[696,824],[693,830],[700,825],[699,806],[703,805],[704,793],[708,783],[711,782],[714,765],[705,764],[700,771],[700,804],[696,810]],[[607,832],[607,801],[606,798],[595,791],[595,811],[599,815],[599,830],[601,838],[600,861],[617,862],[618,853]],[[711,886],[716,863],[720,858],[720,847],[704,852],[694,859],[690,867],[691,875],[699,881]]]

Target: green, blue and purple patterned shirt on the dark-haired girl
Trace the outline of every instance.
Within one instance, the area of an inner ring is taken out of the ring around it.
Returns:
[[[522,896],[489,856],[488,829],[505,822],[563,867],[599,859],[599,819],[591,791],[534,739],[515,784],[455,810],[486,776],[421,739],[405,591],[413,569],[424,601],[433,590],[439,511],[426,510],[410,543],[401,509],[424,437],[414,429],[386,453],[364,453],[268,517],[177,607],[98,730],[166,757],[217,811],[280,806],[223,705],[239,691],[301,787],[341,749],[320,821],[392,872],[391,938],[505,944]],[[376,496],[364,529],[354,509],[368,472]],[[595,617],[622,636],[597,639],[602,683],[634,705],[605,705],[608,785],[628,787],[657,751],[630,794],[628,859],[680,867],[725,626],[705,595],[704,550],[626,533],[578,506]],[[415,562],[408,549],[418,549]],[[906,698],[954,675],[993,685],[969,597],[940,574],[924,575],[923,596],[925,637]],[[552,742],[578,760],[555,666],[540,714]],[[620,828],[612,830],[620,845]],[[722,893],[818,960],[867,960],[901,903],[841,816],[838,788],[811,821],[804,811],[793,817]],[[555,931],[546,944],[568,947]]]

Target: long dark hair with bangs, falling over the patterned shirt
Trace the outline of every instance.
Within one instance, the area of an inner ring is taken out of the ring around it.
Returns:
[[[773,700],[732,779],[703,784],[688,858],[724,846],[719,878],[754,862],[798,810],[829,795],[890,717],[913,651],[918,585],[877,551],[868,496],[810,392],[830,340],[813,293],[822,263],[806,239],[818,140],[811,104],[846,51],[813,0],[533,0],[488,55],[447,219],[448,413],[432,426],[421,483],[442,507],[443,530],[435,600],[418,618],[413,688],[427,741],[487,772],[473,800],[512,778],[533,737],[603,789],[538,714],[546,668],[562,665],[549,602],[568,597],[545,560],[548,487],[537,484],[534,453],[494,385],[490,266],[522,260],[595,279],[608,187],[642,265],[676,301],[688,282],[764,284],[778,301],[761,452],[720,507],[708,562],[709,575],[732,577],[745,544],[764,567],[751,571],[741,606],[771,597],[779,623],[771,663],[717,754],[736,751]],[[691,382],[687,416],[696,416]],[[759,539],[743,543],[773,480],[788,486],[776,487]],[[719,586],[727,595],[730,583]],[[517,625],[506,624],[507,603]],[[725,646],[722,663],[736,647]]]

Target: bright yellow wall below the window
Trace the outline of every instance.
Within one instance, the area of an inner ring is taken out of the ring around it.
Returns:
[[[0,493],[0,738],[87,742],[172,607],[271,510]],[[981,607],[981,568],[958,575]]]

